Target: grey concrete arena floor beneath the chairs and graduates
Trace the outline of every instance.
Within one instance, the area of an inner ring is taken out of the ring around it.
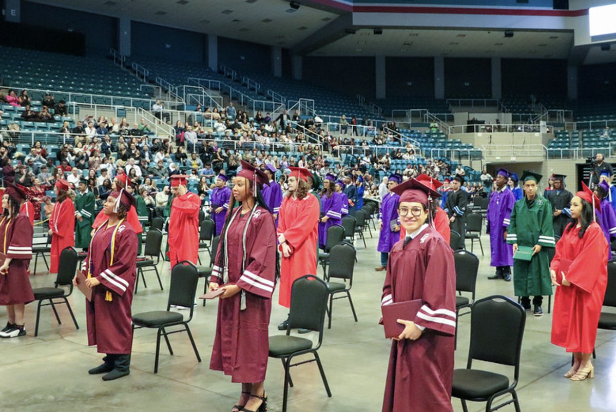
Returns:
[[[379,411],[383,400],[390,342],[384,339],[377,324],[380,317],[381,288],[384,272],[375,272],[378,264],[376,238],[367,236],[368,248],[356,242],[359,262],[355,265],[352,297],[359,322],[352,318],[344,300],[334,302],[333,325],[326,330],[319,350],[332,397],[323,388],[315,363],[293,368],[295,387],[290,389],[289,411]],[[479,252],[480,267],[477,297],[490,294],[513,296],[513,284],[487,280],[492,275],[489,239],[482,236],[485,256]],[[470,247],[470,242],[468,242]],[[203,256],[202,256],[203,257]],[[133,301],[133,313],[164,310],[169,285],[168,264],[163,270],[165,291],[156,286],[154,273],[147,275],[148,288],[139,285]],[[53,275],[44,274],[39,261],[38,274],[31,277],[33,287],[51,286]],[[319,273],[320,274],[320,273]],[[203,290],[203,282],[199,284]],[[80,329],[75,330],[67,309],[60,306],[63,325],[57,325],[51,309],[41,315],[39,336],[34,334],[36,306],[26,307],[28,336],[0,339],[0,394],[19,411],[229,411],[238,398],[240,386],[232,384],[224,374],[209,370],[216,324],[216,304],[201,305],[190,323],[201,353],[197,363],[185,334],[170,337],[174,355],[161,347],[160,368],[153,374],[156,334],[140,329],[134,336],[131,375],[111,382],[90,376],[87,370],[100,363],[94,347],[86,346],[84,298],[76,291],[71,305]],[[286,317],[278,306],[278,292],[270,322],[270,334],[280,333],[276,326]],[[544,306],[545,312],[547,307]],[[468,355],[469,316],[460,318],[456,368],[464,368]],[[562,378],[569,369],[570,356],[564,349],[550,344],[551,315],[530,316],[522,346],[521,378],[517,386],[522,411],[616,411],[616,333],[599,331],[596,343],[598,358],[594,360],[595,377],[582,382]],[[6,312],[0,312],[0,324],[6,323]],[[480,363],[476,363],[480,366]],[[506,368],[493,370],[507,371]],[[513,370],[511,370],[513,371]],[[513,374],[509,374],[512,376]],[[283,369],[280,361],[270,360],[265,380],[269,410],[282,410]],[[460,401],[453,399],[455,411]],[[484,410],[483,403],[470,403],[472,411]],[[512,405],[504,411],[514,408]],[[403,412],[403,411],[401,411]]]

